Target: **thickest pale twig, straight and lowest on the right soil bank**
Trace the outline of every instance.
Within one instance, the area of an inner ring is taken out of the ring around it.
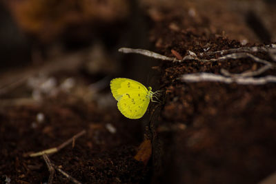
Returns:
[[[266,83],[276,83],[276,76],[264,76],[260,78],[253,77],[226,77],[219,74],[212,73],[195,73],[195,74],[184,74],[181,76],[181,81],[184,82],[222,82],[222,83],[238,83],[242,85],[263,85]]]

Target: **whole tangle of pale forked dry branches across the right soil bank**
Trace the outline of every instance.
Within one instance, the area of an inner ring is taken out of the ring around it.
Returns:
[[[253,78],[253,76],[257,76],[259,74],[262,74],[266,72],[267,70],[270,70],[272,68],[276,68],[276,65],[274,63],[270,63],[269,61],[266,61],[264,59],[260,59],[258,57],[255,57],[253,54],[250,54],[248,52],[269,52],[274,53],[276,50],[276,45],[265,45],[264,47],[242,47],[242,48],[234,48],[229,50],[220,50],[215,52],[201,52],[199,53],[201,56],[203,54],[207,55],[213,55],[216,53],[220,54],[226,54],[225,56],[219,57],[217,59],[198,59],[197,55],[194,52],[188,52],[189,54],[184,57],[183,59],[179,60],[175,57],[166,57],[161,54],[157,54],[155,52],[151,52],[149,50],[143,50],[143,49],[132,49],[132,48],[120,48],[119,52],[124,53],[136,53],[136,54],[142,54],[147,57],[152,57],[155,59],[161,59],[166,61],[178,61],[183,62],[186,60],[196,60],[201,62],[215,62],[215,61],[225,61],[227,59],[242,59],[242,58],[250,58],[253,61],[257,63],[262,63],[264,66],[259,68],[256,71],[246,71],[242,72],[241,74],[232,74],[228,72],[227,70],[221,69],[221,74],[224,74],[224,76],[219,74],[211,74],[211,73],[197,73],[197,74],[184,74],[181,76],[181,80],[185,82],[200,82],[200,81],[213,81],[213,82],[223,82],[223,83],[239,83],[243,85],[252,84],[252,85],[262,85],[265,83],[275,83],[276,82],[276,76],[264,76],[261,78]],[[230,54],[229,54],[230,53]],[[274,56],[274,55],[273,55]]]

